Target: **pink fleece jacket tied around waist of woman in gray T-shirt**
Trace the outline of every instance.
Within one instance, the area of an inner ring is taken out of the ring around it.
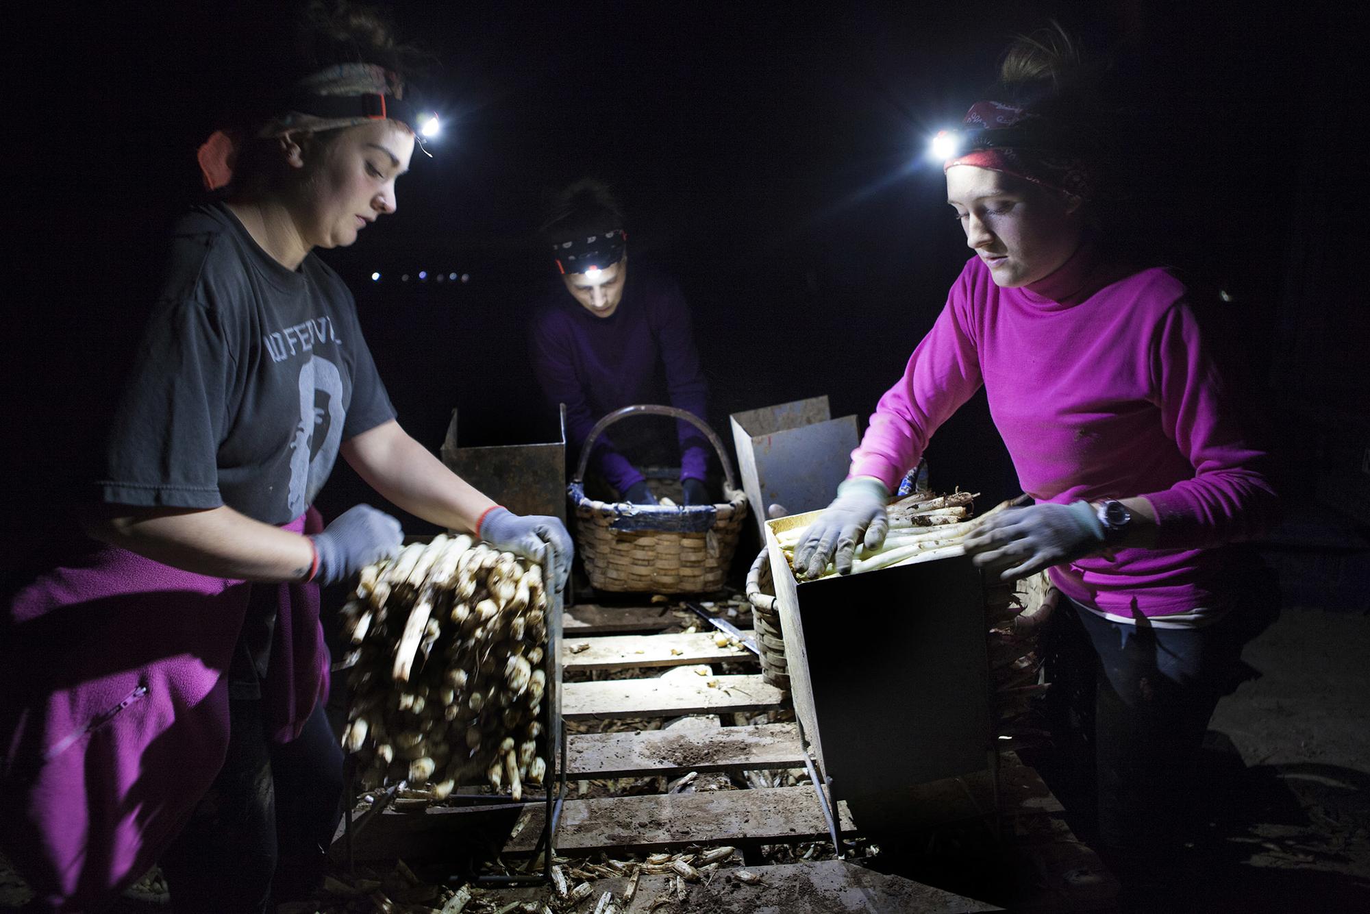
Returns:
[[[285,529],[322,523],[311,510]],[[41,910],[88,910],[141,877],[214,781],[249,586],[100,547],[11,600],[0,844]],[[318,588],[281,591],[263,702],[285,741],[326,695],[327,651]]]

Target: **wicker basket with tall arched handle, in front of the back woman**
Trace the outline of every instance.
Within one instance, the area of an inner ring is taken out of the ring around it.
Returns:
[[[727,502],[663,507],[585,495],[585,467],[595,441],[610,425],[643,414],[684,419],[704,433],[723,466]],[[669,406],[626,406],[610,412],[586,436],[567,493],[575,508],[575,545],[595,589],[707,593],[723,586],[747,519],[747,495],[737,488],[723,443],[695,415]]]

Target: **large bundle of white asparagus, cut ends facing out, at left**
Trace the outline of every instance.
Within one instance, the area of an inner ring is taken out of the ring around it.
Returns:
[[[543,570],[469,536],[437,536],[367,566],[342,610],[355,645],[342,747],[362,785],[481,776],[522,798],[547,771]]]

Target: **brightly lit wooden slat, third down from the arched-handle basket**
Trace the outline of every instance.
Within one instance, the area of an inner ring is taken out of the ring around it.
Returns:
[[[718,685],[710,688],[711,681]],[[562,685],[562,717],[567,721],[767,711],[784,702],[785,693],[760,674],[663,676]]]

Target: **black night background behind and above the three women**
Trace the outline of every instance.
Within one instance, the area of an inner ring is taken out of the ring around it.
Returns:
[[[622,197],[633,256],[685,289],[725,440],[729,412],[821,393],[864,428],[969,256],[940,169],[921,158],[926,137],[980,97],[1012,34],[1056,16],[1115,60],[1125,114],[1111,164],[1126,195],[1108,214],[1114,236],[1138,260],[1186,270],[1203,295],[1228,292],[1229,341],[1288,462],[1370,504],[1370,311],[1352,282],[1367,238],[1348,133],[1367,111],[1349,14],[1155,0],[393,10],[433,55],[416,90],[447,132],[434,158],[415,153],[399,214],[322,256],[356,292],[401,423],[433,449],[452,408],[462,444],[552,434],[525,356],[549,278],[532,230],[547,195],[585,175]],[[42,417],[7,448],[33,481],[18,486],[21,508],[51,500],[88,452],[156,243],[196,199],[195,148],[279,12],[119,3],[58,15],[32,62],[51,77],[56,118],[42,123],[56,126],[25,130],[41,137],[22,211],[36,249],[16,248],[40,282],[7,360],[10,428]],[[470,281],[418,282],[419,270]],[[929,460],[936,488],[1017,493],[982,396]],[[321,507],[367,497],[340,465]]]

